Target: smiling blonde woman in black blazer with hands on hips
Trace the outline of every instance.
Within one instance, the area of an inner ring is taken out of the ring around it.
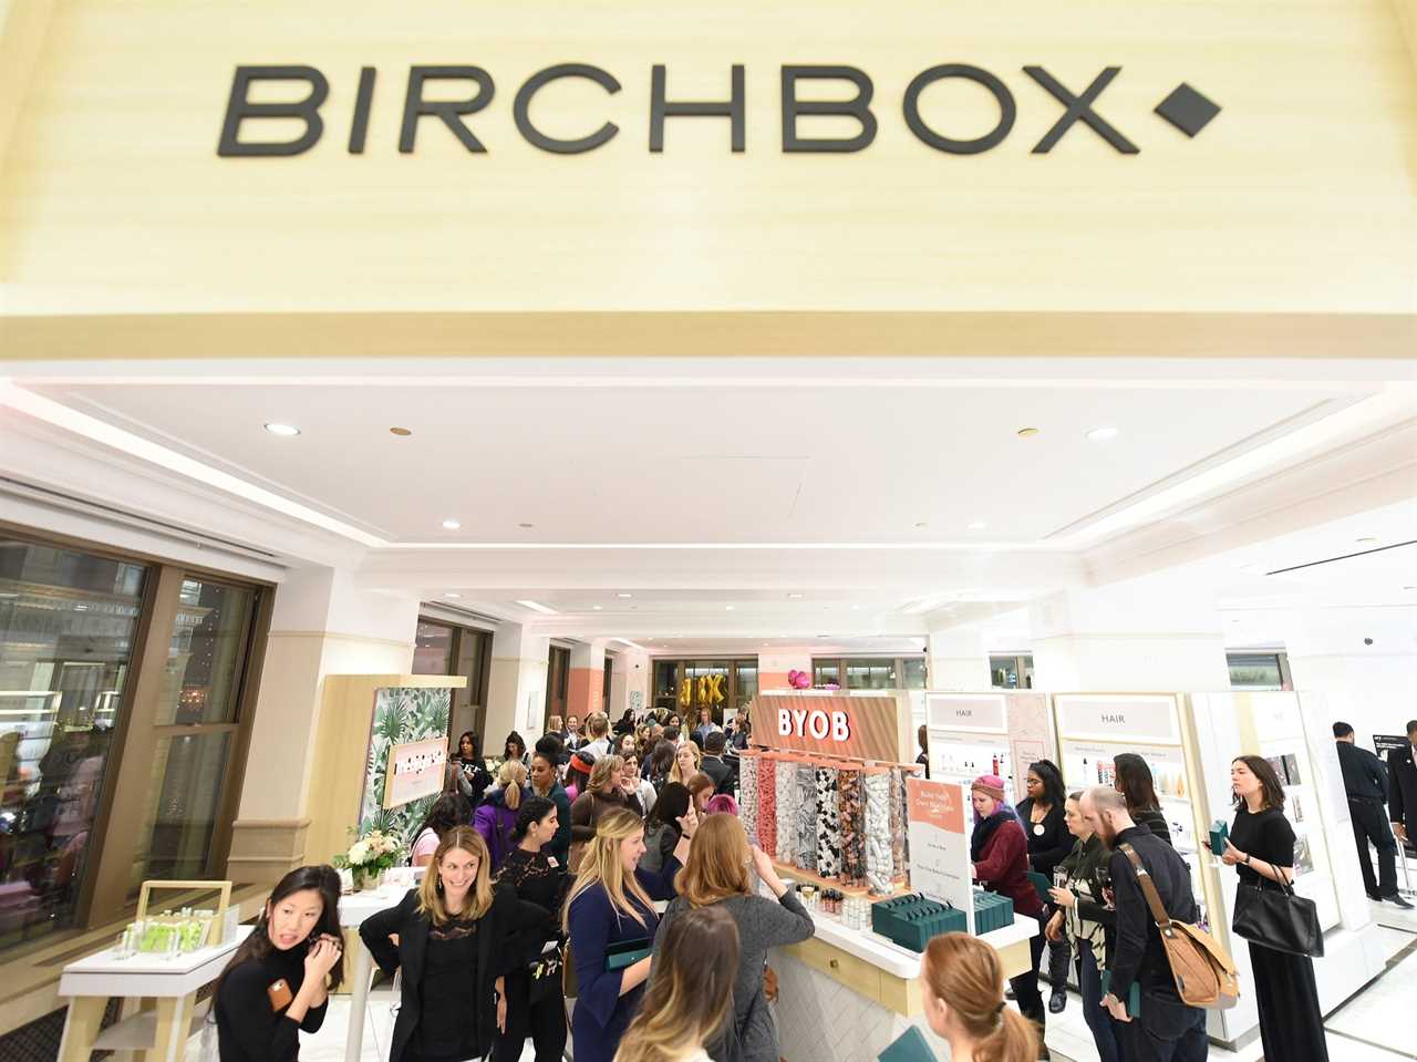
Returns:
[[[419,888],[359,927],[380,970],[404,970],[390,1062],[482,1058],[506,1028],[507,941],[546,912],[495,890],[490,872],[478,831],[449,829]]]

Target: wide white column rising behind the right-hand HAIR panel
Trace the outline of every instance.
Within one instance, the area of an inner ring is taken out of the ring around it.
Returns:
[[[1214,600],[1176,580],[1066,590],[1029,607],[1033,686],[1066,692],[1230,688]]]

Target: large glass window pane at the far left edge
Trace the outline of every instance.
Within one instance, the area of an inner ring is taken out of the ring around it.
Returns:
[[[146,576],[0,539],[0,949],[74,923]]]

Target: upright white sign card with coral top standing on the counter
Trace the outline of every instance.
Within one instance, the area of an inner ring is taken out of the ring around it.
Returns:
[[[965,913],[975,932],[969,862],[969,790],[949,781],[905,780],[910,814],[910,886]]]

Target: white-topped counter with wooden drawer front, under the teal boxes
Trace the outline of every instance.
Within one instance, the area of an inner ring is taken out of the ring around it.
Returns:
[[[812,920],[811,940],[768,953],[778,974],[778,1046],[786,1062],[874,1062],[910,1025],[945,1049],[924,1019],[920,953],[818,912]],[[981,940],[999,951],[1005,976],[1016,977],[1029,968],[1029,939],[1037,933],[1036,919],[1016,915],[1013,926]]]

